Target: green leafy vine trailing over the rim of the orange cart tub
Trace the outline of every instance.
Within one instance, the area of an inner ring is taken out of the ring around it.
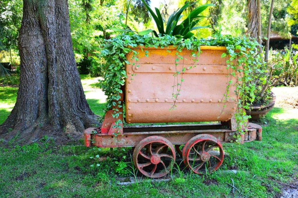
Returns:
[[[150,34],[146,34],[140,36],[135,33],[128,32],[116,36],[113,39],[106,40],[103,43],[103,46],[101,46],[103,50],[99,52],[100,58],[107,60],[107,64],[103,70],[103,80],[100,80],[100,88],[105,91],[105,94],[108,96],[106,110],[113,109],[113,117],[115,117],[115,119],[118,118],[119,111],[117,111],[117,107],[121,104],[121,102],[119,103],[120,94],[122,94],[121,86],[124,85],[125,79],[128,78],[125,72],[125,65],[136,65],[136,67],[139,67],[139,65],[137,65],[138,52],[135,51],[134,48],[139,46],[144,46],[145,48],[167,48],[170,45],[176,47],[177,50],[175,54],[176,68],[172,94],[173,99],[175,100],[180,94],[181,85],[184,81],[182,75],[186,70],[185,67],[182,67],[182,70],[180,71],[177,69],[178,62],[181,60],[184,61],[184,57],[180,56],[179,52],[182,50],[192,50],[194,62],[191,67],[195,67],[195,63],[197,62],[198,56],[201,52],[200,46],[226,47],[226,53],[223,53],[221,58],[226,59],[226,69],[231,69],[232,72],[227,76],[228,85],[221,102],[226,103],[229,100],[229,88],[232,85],[231,78],[237,75],[238,83],[236,84],[236,92],[239,99],[238,111],[235,113],[235,119],[238,123],[237,131],[240,133],[243,132],[243,126],[246,126],[249,118],[243,109],[249,109],[252,102],[254,102],[257,89],[256,84],[254,83],[255,79],[264,78],[264,76],[266,77],[267,72],[263,69],[264,67],[262,67],[262,54],[258,53],[258,42],[247,36],[232,37],[230,35],[217,35],[210,39],[196,39],[194,37],[183,39],[170,35],[153,37]],[[131,60],[127,60],[126,54],[128,53],[133,53],[133,58]],[[145,56],[148,56],[148,51],[145,53]],[[180,73],[182,74],[181,79],[179,80],[178,75]],[[134,75],[135,74],[133,73],[131,79],[133,79]],[[175,102],[173,104],[173,108],[174,107]],[[118,120],[117,123],[120,123],[121,121]]]

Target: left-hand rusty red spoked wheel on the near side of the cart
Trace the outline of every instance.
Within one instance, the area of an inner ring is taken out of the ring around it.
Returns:
[[[172,143],[161,136],[150,136],[136,145],[133,154],[135,167],[145,176],[162,177],[170,172],[176,154]]]

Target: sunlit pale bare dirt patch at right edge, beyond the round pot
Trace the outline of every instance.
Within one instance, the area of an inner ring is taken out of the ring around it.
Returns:
[[[274,87],[272,92],[276,96],[274,107],[298,109],[298,87]]]

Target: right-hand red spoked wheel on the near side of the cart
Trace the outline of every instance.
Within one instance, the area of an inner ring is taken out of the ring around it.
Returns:
[[[191,138],[183,149],[184,164],[196,174],[216,171],[224,160],[221,142],[209,134]]]

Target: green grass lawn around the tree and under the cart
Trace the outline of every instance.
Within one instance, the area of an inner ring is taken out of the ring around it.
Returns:
[[[91,109],[101,114],[105,98],[96,88],[97,79],[81,79]],[[13,108],[16,91],[0,87],[0,123]],[[278,182],[298,181],[298,109],[277,105],[260,122],[263,140],[224,144],[228,155],[213,174],[179,174],[175,167],[168,182],[133,185],[117,185],[119,176],[133,176],[131,148],[92,150],[82,140],[55,145],[50,137],[25,146],[10,142],[0,146],[0,197],[279,197],[286,186]],[[96,155],[100,166],[90,167],[90,156]],[[120,175],[115,172],[119,164],[127,166]],[[237,173],[225,172],[230,169]],[[233,193],[233,182],[239,192]]]

